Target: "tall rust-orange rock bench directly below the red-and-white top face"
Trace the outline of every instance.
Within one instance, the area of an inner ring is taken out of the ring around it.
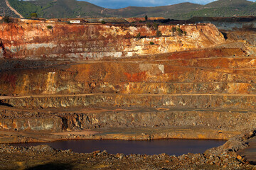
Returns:
[[[159,57],[158,61],[98,61],[4,69],[0,73],[0,94],[256,94],[255,57],[231,50],[238,57]],[[186,55],[190,57],[186,53],[181,56]]]

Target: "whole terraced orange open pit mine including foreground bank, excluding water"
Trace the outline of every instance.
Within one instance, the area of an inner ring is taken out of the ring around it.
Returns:
[[[1,23],[0,169],[255,168],[242,152],[256,141],[254,36],[211,23]],[[180,157],[6,145],[171,138],[228,142]]]

